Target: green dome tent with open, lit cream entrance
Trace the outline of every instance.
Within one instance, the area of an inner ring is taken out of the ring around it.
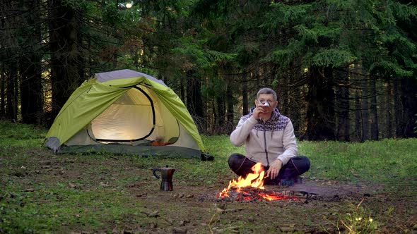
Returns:
[[[47,133],[54,152],[200,157],[204,144],[181,99],[134,70],[97,73],[62,107]]]

